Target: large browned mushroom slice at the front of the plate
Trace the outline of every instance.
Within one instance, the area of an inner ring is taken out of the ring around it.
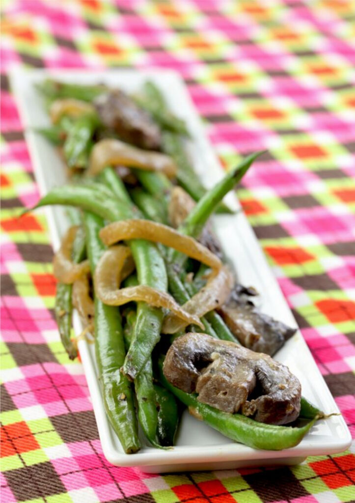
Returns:
[[[187,333],[170,346],[166,379],[198,400],[224,412],[240,412],[256,421],[284,425],[300,413],[301,384],[288,367],[204,333]]]

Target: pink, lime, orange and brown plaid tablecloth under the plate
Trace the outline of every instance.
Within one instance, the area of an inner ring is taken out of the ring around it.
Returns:
[[[102,455],[80,363],[53,320],[46,221],[7,71],[182,73],[225,164],[265,148],[238,195],[355,433],[355,73],[342,0],[3,0],[2,500],[316,503],[355,499],[349,452],[296,467],[147,475]]]

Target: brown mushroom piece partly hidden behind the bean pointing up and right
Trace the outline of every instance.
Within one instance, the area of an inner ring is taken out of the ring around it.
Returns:
[[[196,206],[195,201],[182,187],[174,187],[171,191],[168,208],[169,220],[172,227],[178,228],[194,206]],[[216,234],[213,232],[210,221],[205,225],[201,235],[198,237],[198,241],[212,251],[212,253],[217,255],[217,257],[222,259],[221,245]]]

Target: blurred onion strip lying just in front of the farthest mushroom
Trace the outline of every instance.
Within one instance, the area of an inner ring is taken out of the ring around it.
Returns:
[[[140,170],[158,171],[169,178],[176,174],[176,164],[168,155],[141,150],[113,138],[105,138],[95,144],[87,175],[95,176],[108,165],[138,167]]]

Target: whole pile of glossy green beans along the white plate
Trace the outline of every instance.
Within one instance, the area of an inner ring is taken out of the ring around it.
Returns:
[[[48,80],[41,92],[48,102],[58,98],[91,102],[105,92],[105,87],[58,84]],[[197,239],[214,212],[226,211],[223,197],[262,152],[242,159],[214,188],[206,191],[184,150],[184,138],[189,136],[184,121],[169,111],[162,94],[151,82],[144,85],[137,100],[161,127],[163,151],[170,154],[179,167],[177,182],[197,201],[178,229],[182,235]],[[53,144],[63,147],[69,168],[80,168],[83,172],[99,127],[99,118],[93,113],[76,119],[62,117],[57,125],[41,133]],[[168,224],[172,183],[159,173],[135,170],[135,175],[140,186],[127,188],[113,167],[107,166],[94,180],[79,175],[75,183],[54,188],[36,205],[36,208],[52,204],[75,208],[70,213],[75,220],[73,223],[80,229],[73,243],[71,260],[80,263],[87,256],[93,278],[105,250],[99,237],[105,223],[145,217]],[[189,263],[185,255],[144,239],[132,239],[126,244],[131,249],[136,271],[125,280],[124,286],[140,284],[168,291],[180,304],[188,302],[201,287],[198,276],[205,271],[204,266],[195,274],[196,281],[188,281]],[[69,357],[74,358],[77,349],[71,339],[71,294],[72,285],[58,284],[55,313],[63,346]],[[308,423],[300,428],[265,425],[241,414],[228,414],[203,404],[195,394],[173,387],[162,373],[161,353],[166,350],[166,344],[180,335],[163,336],[161,340],[161,326],[166,314],[163,309],[144,302],[131,302],[128,307],[120,309],[105,305],[95,293],[94,304],[95,352],[102,395],[111,425],[126,453],[140,449],[138,423],[150,445],[158,448],[172,446],[180,418],[179,403],[227,437],[258,449],[293,447],[317,418],[322,417],[322,412],[304,397],[300,416]],[[204,333],[236,342],[215,311],[207,313],[201,321]],[[201,328],[190,326],[186,330],[201,331]]]

